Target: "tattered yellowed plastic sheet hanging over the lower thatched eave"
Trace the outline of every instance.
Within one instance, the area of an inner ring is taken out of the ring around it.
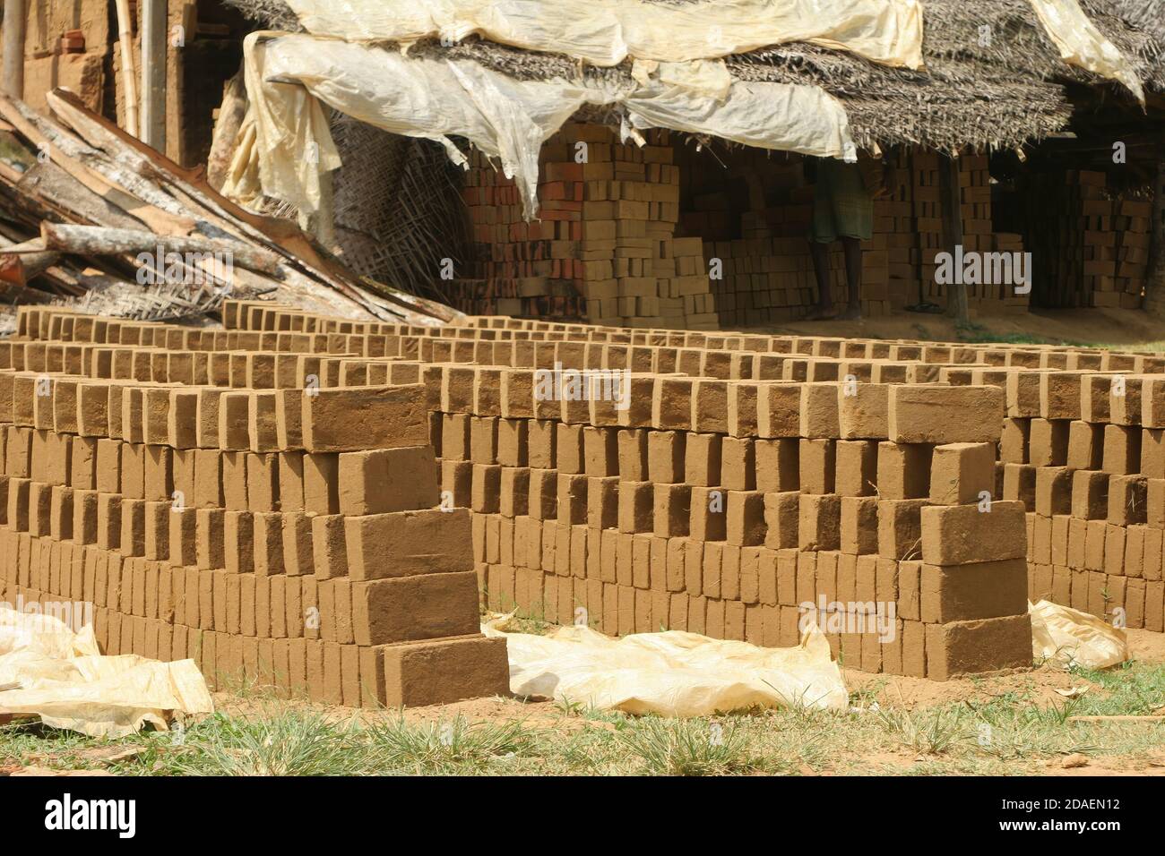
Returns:
[[[584,104],[621,105],[634,128],[706,133],[822,157],[856,151],[846,112],[827,92],[733,80],[720,61],[643,63],[633,84],[613,87],[517,80],[471,59],[410,58],[311,35],[270,36],[252,34],[245,42],[246,146],[224,186],[241,201],[257,194],[257,175],[266,194],[302,212],[319,208],[319,177],[339,165],[319,101],[384,130],[435,140],[463,165],[465,156],[450,137],[469,140],[516,179],[527,218],[537,211],[542,143]]]

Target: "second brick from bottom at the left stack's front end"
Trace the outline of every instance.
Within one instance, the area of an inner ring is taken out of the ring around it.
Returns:
[[[475,634],[476,574],[467,571],[354,582],[352,625],[358,645]]]

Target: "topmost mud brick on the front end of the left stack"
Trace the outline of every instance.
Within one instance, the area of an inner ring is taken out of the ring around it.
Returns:
[[[320,389],[304,396],[302,430],[309,452],[428,445],[424,387]]]

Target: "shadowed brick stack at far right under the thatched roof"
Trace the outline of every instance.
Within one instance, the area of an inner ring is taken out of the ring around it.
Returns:
[[[1029,243],[1045,260],[1045,306],[1138,309],[1145,288],[1152,203],[1114,198],[1103,172],[1043,176],[1029,194]]]

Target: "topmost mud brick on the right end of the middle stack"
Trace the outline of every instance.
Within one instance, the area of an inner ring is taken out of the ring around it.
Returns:
[[[895,443],[998,443],[1002,419],[998,387],[890,389],[889,439]]]

